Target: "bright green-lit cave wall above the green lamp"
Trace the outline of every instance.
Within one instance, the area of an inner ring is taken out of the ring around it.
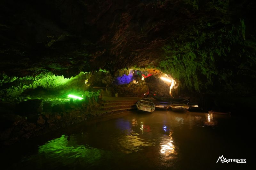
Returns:
[[[63,76],[56,76],[51,72],[42,72],[38,75],[26,77],[9,77],[6,74],[1,74],[1,96],[2,97],[15,97],[22,94],[29,93],[33,89],[45,89],[49,93],[56,94],[55,92],[65,93],[86,90],[84,80],[89,78],[88,73],[81,72],[75,77],[64,78]],[[36,91],[36,90],[35,90]],[[55,92],[54,92],[55,91]],[[57,93],[58,94],[58,93]]]

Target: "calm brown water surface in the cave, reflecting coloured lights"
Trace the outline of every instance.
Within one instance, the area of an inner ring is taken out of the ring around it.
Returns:
[[[248,128],[248,121],[243,117],[131,111],[4,148],[2,167],[247,169],[253,152],[244,133]],[[216,163],[221,155],[227,159],[246,159],[247,163]]]

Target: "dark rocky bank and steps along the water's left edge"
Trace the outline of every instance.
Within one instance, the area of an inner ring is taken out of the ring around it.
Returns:
[[[109,106],[105,108],[102,100],[91,96],[84,100],[63,101],[52,107],[52,103],[48,103],[44,105],[44,109],[42,103],[37,99],[24,101],[17,104],[20,110],[23,109],[22,112],[0,114],[0,145],[11,145],[20,140],[84,121],[87,118],[102,117],[134,109],[136,102],[128,101],[124,104],[115,104],[113,108]]]

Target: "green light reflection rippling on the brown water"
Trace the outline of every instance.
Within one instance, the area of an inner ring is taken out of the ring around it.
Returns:
[[[71,135],[63,134],[60,138],[48,141],[39,146],[38,153],[23,158],[22,162],[39,162],[51,164],[51,168],[67,165],[90,165],[99,162],[106,152],[88,145],[78,145],[77,139]],[[52,162],[56,162],[55,164]],[[58,163],[57,163],[58,162]],[[36,168],[40,169],[38,165]]]

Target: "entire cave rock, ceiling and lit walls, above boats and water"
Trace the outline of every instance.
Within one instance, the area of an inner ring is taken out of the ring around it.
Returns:
[[[2,0],[2,126],[46,124],[49,110],[90,113],[116,93],[244,114],[256,101],[255,9],[251,0]]]

